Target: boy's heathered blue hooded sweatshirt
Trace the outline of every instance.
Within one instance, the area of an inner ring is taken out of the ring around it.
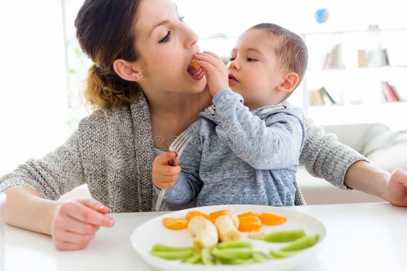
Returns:
[[[182,171],[165,202],[293,206],[305,141],[302,111],[285,103],[249,111],[230,88],[218,91],[213,104],[187,129]]]

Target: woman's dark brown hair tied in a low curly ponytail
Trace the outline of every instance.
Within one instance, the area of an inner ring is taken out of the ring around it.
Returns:
[[[83,93],[94,110],[127,106],[141,91],[113,69],[115,59],[139,58],[132,27],[138,5],[137,0],[85,0],[75,19],[79,45],[94,62]]]

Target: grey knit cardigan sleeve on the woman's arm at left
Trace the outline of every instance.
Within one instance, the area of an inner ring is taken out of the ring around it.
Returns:
[[[57,200],[61,195],[84,184],[83,166],[78,147],[78,130],[59,148],[41,159],[29,159],[0,179],[0,191],[24,185],[37,190],[43,198]]]

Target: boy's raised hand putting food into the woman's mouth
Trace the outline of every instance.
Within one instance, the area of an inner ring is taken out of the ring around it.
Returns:
[[[196,53],[195,59],[207,77],[209,91],[212,96],[222,88],[229,87],[228,69],[218,55],[203,51],[203,53]]]

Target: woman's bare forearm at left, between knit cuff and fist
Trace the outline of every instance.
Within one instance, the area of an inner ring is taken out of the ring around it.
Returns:
[[[51,223],[60,202],[44,199],[35,189],[13,186],[7,194],[7,218],[10,225],[31,231],[51,234]]]

